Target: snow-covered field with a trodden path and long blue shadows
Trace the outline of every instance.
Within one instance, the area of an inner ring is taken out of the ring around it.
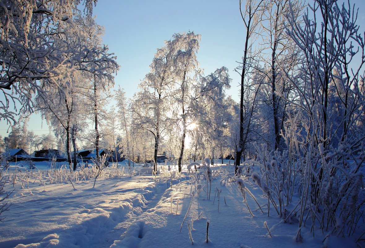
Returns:
[[[330,231],[311,232],[309,221],[296,242],[296,219],[284,223],[273,207],[268,216],[267,198],[251,177],[242,177],[247,207],[227,176],[232,165],[212,166],[210,183],[203,169],[178,174],[163,165],[152,176],[141,175],[141,165],[129,171],[120,163],[104,169],[95,187],[95,168],[69,174],[47,162],[35,165],[28,171],[12,164],[4,174],[5,191],[14,191],[1,214],[1,248],[358,247],[342,237],[325,239]]]

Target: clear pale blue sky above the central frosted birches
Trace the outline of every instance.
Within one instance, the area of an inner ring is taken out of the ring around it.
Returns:
[[[358,24],[365,21],[365,1],[351,0],[360,8]],[[227,94],[239,100],[240,76],[234,69],[241,61],[245,27],[239,13],[239,0],[98,0],[93,9],[96,22],[105,27],[103,41],[117,56],[120,70],[115,87],[120,85],[131,98],[137,85],[149,72],[155,51],[174,33],[194,31],[201,34],[197,58],[205,75],[226,66],[231,79]],[[365,26],[365,25],[364,25]],[[0,134],[6,125],[0,122]],[[31,117],[28,130],[48,132],[39,115]]]

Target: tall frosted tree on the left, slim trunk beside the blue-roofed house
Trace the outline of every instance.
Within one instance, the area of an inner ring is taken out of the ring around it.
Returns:
[[[77,72],[80,73],[77,75],[77,83],[80,85],[79,88],[83,89],[84,110],[94,122],[95,129],[90,132],[89,141],[93,141],[96,154],[99,154],[100,121],[105,120],[104,106],[111,99],[109,89],[114,85],[113,73],[116,73],[119,65],[116,57],[108,53],[108,47],[102,43],[104,28],[96,24],[95,18],[78,16],[75,23],[80,28],[78,33],[73,34],[76,36],[74,42],[81,44],[84,50],[86,57],[80,58],[81,61],[88,61],[87,65],[78,64]],[[96,160],[99,160],[98,156]]]

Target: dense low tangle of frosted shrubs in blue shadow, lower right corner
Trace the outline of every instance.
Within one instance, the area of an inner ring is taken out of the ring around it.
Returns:
[[[285,222],[297,222],[299,228],[309,222],[324,231],[353,235],[364,223],[364,145],[348,140],[337,147],[316,144],[315,136],[308,135],[313,122],[299,111],[283,132],[288,147],[283,152],[256,145],[260,171],[251,178]]]

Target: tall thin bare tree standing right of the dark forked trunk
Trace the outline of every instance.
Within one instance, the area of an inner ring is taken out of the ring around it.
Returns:
[[[300,23],[303,5],[301,1],[291,1],[291,10],[295,23]],[[273,149],[278,149],[281,141],[281,130],[285,121],[287,111],[287,101],[276,94],[276,91],[285,92],[288,95],[290,89],[287,79],[284,77],[280,64],[285,65],[286,70],[290,71],[299,64],[300,50],[295,42],[285,31],[284,24],[287,22],[285,13],[289,10],[289,0],[269,0],[266,2],[262,16],[262,63],[264,70],[261,73],[265,75],[265,83],[268,87],[264,92],[270,92],[266,103],[270,108],[268,121],[273,123],[273,138],[270,137],[269,144],[273,144]],[[269,90],[270,89],[270,90]],[[264,99],[262,99],[264,100]],[[267,124],[265,124],[267,125]],[[271,132],[270,132],[271,133]]]

